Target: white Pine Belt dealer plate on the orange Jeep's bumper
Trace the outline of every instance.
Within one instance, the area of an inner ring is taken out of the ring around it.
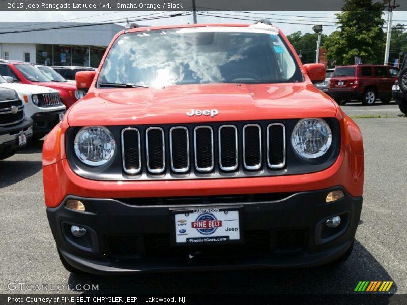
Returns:
[[[173,212],[175,242],[188,245],[240,241],[237,208],[196,208]]]

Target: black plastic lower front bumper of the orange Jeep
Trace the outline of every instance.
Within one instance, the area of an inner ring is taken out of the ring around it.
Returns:
[[[332,190],[342,190],[345,197],[327,203],[325,198]],[[47,215],[65,260],[96,274],[316,266],[348,250],[358,227],[362,197],[352,197],[341,187],[277,197],[270,194],[267,200],[264,194],[260,201],[227,200],[209,205],[242,208],[244,238],[235,244],[173,246],[171,209],[179,208],[175,205],[68,196],[59,207],[47,208]],[[81,200],[86,211],[65,207],[68,199]],[[202,206],[208,204],[202,202]],[[341,224],[329,228],[326,219],[336,215]],[[72,225],[85,227],[85,236],[74,237]]]

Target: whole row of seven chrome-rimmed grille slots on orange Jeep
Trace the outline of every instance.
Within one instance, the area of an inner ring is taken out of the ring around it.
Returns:
[[[128,175],[139,174],[143,166],[148,175],[180,177],[285,168],[282,123],[263,128],[259,124],[128,127],[122,129],[121,141],[123,170]]]

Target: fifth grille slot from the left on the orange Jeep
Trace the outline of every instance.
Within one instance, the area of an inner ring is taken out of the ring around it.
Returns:
[[[238,130],[234,125],[219,127],[219,166],[224,171],[238,168]]]

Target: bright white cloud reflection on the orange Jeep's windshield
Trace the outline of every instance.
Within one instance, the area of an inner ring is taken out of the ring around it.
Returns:
[[[153,86],[178,83],[184,77],[195,83],[225,81],[221,67],[245,58],[244,51],[253,45],[253,39],[222,34],[215,33],[208,45],[188,44],[183,34],[176,33],[130,34],[111,49],[103,76],[108,82]]]

